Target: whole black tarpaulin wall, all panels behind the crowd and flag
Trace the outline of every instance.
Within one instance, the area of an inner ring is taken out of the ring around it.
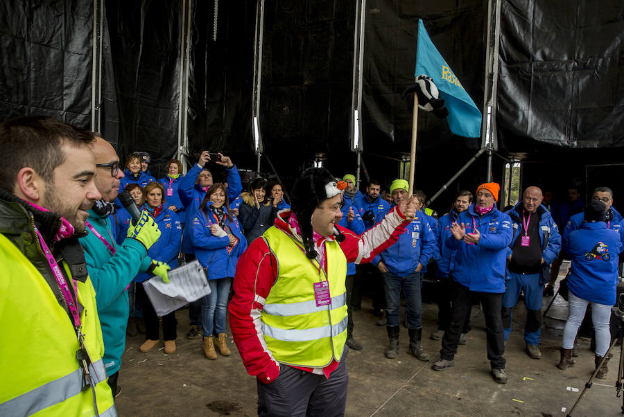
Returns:
[[[139,149],[157,157],[155,174],[177,150],[182,3],[104,2],[101,130],[122,157]],[[578,163],[587,155],[575,148],[622,145],[623,122],[616,116],[624,96],[623,3],[502,4],[499,151],[553,158],[551,150],[563,146],[571,150],[566,158]],[[224,150],[240,168],[254,168],[256,4],[218,1],[216,40],[214,1],[191,5],[191,152]],[[297,175],[317,152],[329,155],[332,172],[354,171],[355,6],[355,0],[266,1],[260,118],[266,155],[283,177]],[[480,107],[486,8],[485,0],[367,1],[363,157],[372,177],[396,177],[397,161],[383,157],[409,150],[411,105],[399,94],[413,80],[417,19]],[[88,126],[93,2],[6,0],[0,12],[2,118],[49,114]],[[476,152],[478,140],[451,135],[445,121],[424,112],[419,119],[417,186],[431,194]],[[485,178],[484,165],[478,161],[451,188],[474,188]],[[266,159],[262,169],[269,170]],[[493,170],[498,179],[499,167]]]

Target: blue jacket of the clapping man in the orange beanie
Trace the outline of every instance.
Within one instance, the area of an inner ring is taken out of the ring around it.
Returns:
[[[457,220],[464,224],[466,233],[471,233],[476,226],[480,238],[476,245],[468,245],[453,238],[449,230],[447,247],[457,249],[451,271],[453,280],[471,291],[505,292],[507,247],[513,234],[511,219],[496,206],[479,218],[472,204],[467,211],[460,213]]]

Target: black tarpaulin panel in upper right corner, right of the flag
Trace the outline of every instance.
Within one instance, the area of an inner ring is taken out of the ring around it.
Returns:
[[[624,2],[502,4],[501,149],[624,146]]]

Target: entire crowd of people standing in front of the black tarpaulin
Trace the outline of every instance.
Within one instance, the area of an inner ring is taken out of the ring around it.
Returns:
[[[0,168],[0,327],[11,341],[0,344],[0,357],[3,380],[12,381],[3,385],[0,414],[116,415],[126,335],[144,332],[139,351],[152,351],[162,319],[164,351],[176,351],[175,312],[158,317],[142,283],[168,283],[169,270],[194,259],[211,292],[190,303],[186,337],[202,337],[209,360],[231,355],[229,310],[243,364],[257,378],[259,415],[345,409],[345,358],[349,349],[365,348],[354,336],[353,312],[367,286],[387,330],[385,357],[399,355],[401,298],[409,354],[425,362],[436,356],[422,346],[425,274],[437,281],[438,321],[429,337],[441,349],[433,369],[453,366],[478,301],[492,377],[505,383],[515,305],[523,296],[526,353],[539,360],[542,297],[570,259],[558,367],[575,364],[575,339],[591,304],[596,371],[607,375],[624,240],[610,188],[596,188],[585,207],[578,189],[569,190],[569,202],[554,204],[530,186],[501,211],[500,186],[489,182],[474,195],[460,190],[438,218],[422,190],[410,195],[404,179],[383,192],[371,180],[361,192],[352,174],[309,168],[288,202],[279,182],[258,178],[243,191],[223,154],[214,163],[225,177],[214,181],[208,151],[186,175],[172,159],[157,180],[146,152],[130,154],[122,166],[101,135],[48,117],[3,123],[0,144],[10,153]],[[123,191],[138,220],[120,201]],[[21,305],[32,308],[26,313]],[[37,332],[24,335],[33,317]]]

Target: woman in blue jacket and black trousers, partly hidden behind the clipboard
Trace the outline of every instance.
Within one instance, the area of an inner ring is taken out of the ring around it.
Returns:
[[[177,219],[175,212],[166,208],[165,190],[162,184],[150,182],[143,189],[145,204],[142,209],[147,210],[153,215],[158,229],[160,230],[160,238],[148,250],[148,257],[152,260],[159,260],[166,263],[171,268],[177,267],[177,254],[180,252],[180,240],[182,239],[182,227],[180,220]],[[151,278],[151,274],[139,274],[135,278],[135,282],[143,283]],[[137,296],[141,300],[143,306],[143,315],[145,318],[145,335],[146,341],[141,345],[139,351],[149,352],[158,345],[160,338],[158,328],[158,316],[154,307],[148,298],[143,285],[137,285]],[[165,353],[175,352],[177,320],[175,312],[170,312],[162,317],[162,333]]]

